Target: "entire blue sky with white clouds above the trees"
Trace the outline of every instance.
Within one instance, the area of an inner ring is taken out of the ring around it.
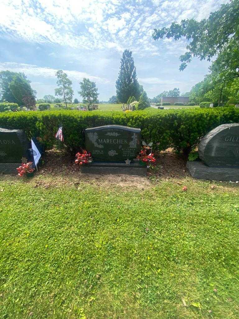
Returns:
[[[208,72],[194,59],[180,72],[186,41],[153,41],[154,28],[181,19],[203,19],[227,0],[1,0],[0,70],[24,72],[37,97],[54,95],[62,69],[79,98],[79,81],[95,81],[100,100],[115,94],[120,58],[133,52],[148,97],[179,87],[189,91]]]

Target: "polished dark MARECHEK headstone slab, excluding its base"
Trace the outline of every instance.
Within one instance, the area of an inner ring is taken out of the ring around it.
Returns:
[[[141,150],[141,130],[122,125],[93,127],[85,130],[85,144],[96,159],[133,159]]]

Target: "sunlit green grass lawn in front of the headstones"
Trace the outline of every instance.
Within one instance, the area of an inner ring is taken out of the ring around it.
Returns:
[[[1,177],[0,318],[237,319],[237,185],[101,178]]]

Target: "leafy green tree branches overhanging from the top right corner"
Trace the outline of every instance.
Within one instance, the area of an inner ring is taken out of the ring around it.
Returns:
[[[180,70],[184,70],[192,57],[208,61],[215,55],[214,68],[218,78],[232,79],[239,77],[239,1],[231,0],[222,4],[220,9],[211,12],[208,19],[196,21],[182,20],[173,22],[169,28],[154,29],[153,39],[186,37],[189,44],[187,52],[180,56]]]

